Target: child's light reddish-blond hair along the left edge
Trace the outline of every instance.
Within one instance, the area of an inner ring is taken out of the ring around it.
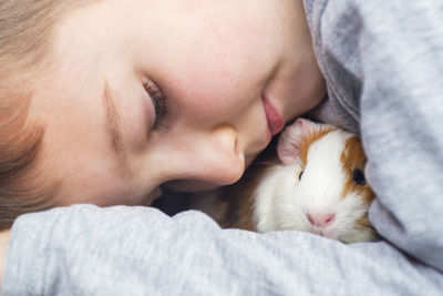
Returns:
[[[21,214],[54,206],[58,185],[33,184],[44,126],[29,116],[32,81],[50,63],[58,21],[96,1],[0,1],[0,229]]]

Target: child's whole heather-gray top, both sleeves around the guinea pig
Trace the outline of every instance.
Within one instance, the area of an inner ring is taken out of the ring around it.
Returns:
[[[3,295],[442,295],[441,1],[305,1],[329,99],[361,132],[387,238],[222,231],[198,212],[73,206],[20,217]]]

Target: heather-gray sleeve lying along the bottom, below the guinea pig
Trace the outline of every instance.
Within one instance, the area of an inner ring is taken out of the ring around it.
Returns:
[[[220,229],[198,212],[78,205],[21,216],[3,295],[439,295],[443,276],[385,242]]]

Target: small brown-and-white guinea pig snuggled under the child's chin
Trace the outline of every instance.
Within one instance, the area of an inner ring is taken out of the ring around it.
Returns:
[[[343,243],[374,241],[368,218],[374,193],[356,134],[298,119],[277,147],[259,155],[234,185],[194,198],[225,228],[296,229]]]

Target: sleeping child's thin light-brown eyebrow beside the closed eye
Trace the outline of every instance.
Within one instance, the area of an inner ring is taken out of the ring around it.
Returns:
[[[103,104],[106,111],[106,133],[109,137],[110,149],[114,153],[119,161],[120,171],[122,172],[125,180],[128,180],[130,166],[126,159],[126,149],[123,143],[122,136],[122,110],[117,104],[117,96],[115,91],[113,91],[107,82],[104,84],[103,90]]]

